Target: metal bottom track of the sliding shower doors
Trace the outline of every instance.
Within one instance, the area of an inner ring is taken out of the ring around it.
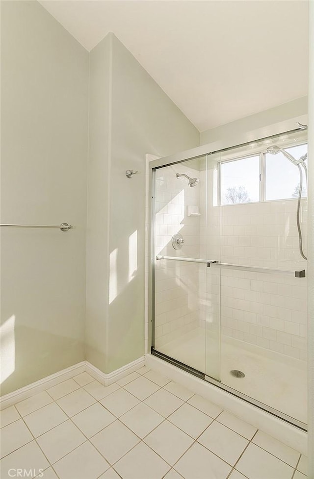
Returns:
[[[224,391],[232,394],[233,396],[241,399],[242,401],[245,401],[246,403],[252,404],[256,407],[259,407],[263,411],[279,418],[287,423],[291,424],[292,426],[297,427],[298,429],[301,429],[303,431],[307,432],[307,424],[303,423],[302,421],[299,421],[295,418],[292,418],[291,416],[288,416],[287,414],[278,411],[277,409],[274,409],[271,406],[268,406],[267,404],[261,403],[260,401],[251,398],[250,396],[247,396],[246,394],[241,393],[240,391],[237,391],[236,389],[227,386],[226,384],[223,384],[221,381],[218,381],[217,379],[211,378],[210,376],[207,376],[205,373],[202,373],[201,371],[198,371],[197,369],[192,368],[191,366],[188,366],[187,364],[184,364],[181,361],[178,361],[177,359],[174,359],[173,357],[167,356],[164,353],[160,353],[154,348],[151,348],[151,354],[154,356],[159,357],[160,359],[163,359],[164,361],[172,364],[173,366],[176,366],[183,371],[190,373],[194,376],[197,376],[200,379],[203,379],[204,381],[209,382],[213,386],[219,387],[220,389],[223,389]]]

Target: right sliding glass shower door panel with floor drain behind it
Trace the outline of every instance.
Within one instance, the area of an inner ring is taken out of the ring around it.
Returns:
[[[288,141],[286,137],[274,138],[255,148],[265,151],[270,143],[280,141],[282,145],[284,140]],[[298,154],[304,154],[302,148]],[[260,189],[259,202],[221,206],[220,260],[230,264],[228,269],[221,267],[221,382],[303,427],[307,423],[307,278],[294,277],[295,271],[306,270],[306,260],[299,252],[294,194],[299,173],[287,158],[262,155],[264,193],[272,201],[262,200]],[[238,156],[235,149],[223,153],[222,160]],[[282,175],[289,176],[288,199],[277,200],[288,196],[286,190],[274,190],[272,196],[269,193],[278,183],[274,177],[277,162]],[[300,210],[307,252],[306,197]],[[238,270],[232,265],[244,268]],[[254,271],[261,267],[270,271]]]

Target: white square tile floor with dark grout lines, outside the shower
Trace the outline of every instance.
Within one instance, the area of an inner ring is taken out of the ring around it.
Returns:
[[[82,373],[1,411],[1,479],[18,468],[44,479],[307,478],[305,456],[147,367],[107,387]]]

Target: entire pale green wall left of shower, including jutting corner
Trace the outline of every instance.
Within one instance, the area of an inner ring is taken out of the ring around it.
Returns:
[[[1,31],[1,222],[75,226],[1,230],[5,394],[144,352],[145,153],[199,133],[112,34],[88,55],[32,1],[3,2]]]

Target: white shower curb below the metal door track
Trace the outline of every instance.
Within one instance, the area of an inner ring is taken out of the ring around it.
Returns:
[[[203,379],[197,378],[196,376],[193,376],[192,374],[189,374],[152,354],[145,354],[145,364],[148,368],[178,382],[182,386],[200,396],[203,396],[212,403],[216,403],[223,409],[226,409],[235,416],[241,418],[243,421],[261,429],[291,448],[296,449],[300,453],[307,454],[308,435],[301,429],[288,424],[282,419],[263,411],[259,407],[249,404],[223,389],[220,389]]]

